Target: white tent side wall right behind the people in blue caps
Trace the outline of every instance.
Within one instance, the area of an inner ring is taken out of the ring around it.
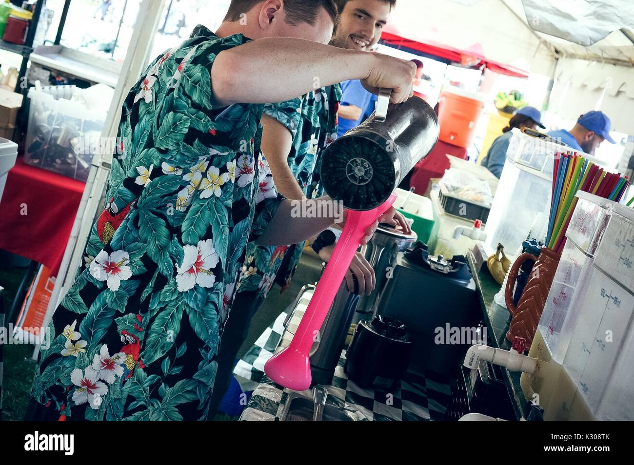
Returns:
[[[612,120],[613,131],[634,134],[634,68],[560,58],[555,78],[550,111],[574,120],[601,110]],[[560,92],[566,93],[559,106]]]

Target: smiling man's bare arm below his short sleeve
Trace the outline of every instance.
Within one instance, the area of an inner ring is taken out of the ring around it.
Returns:
[[[262,153],[273,174],[278,192],[292,200],[304,198],[295,175],[288,167],[288,154],[293,143],[288,129],[269,115],[262,115]]]

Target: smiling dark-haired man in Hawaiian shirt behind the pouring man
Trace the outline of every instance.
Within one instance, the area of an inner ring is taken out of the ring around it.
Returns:
[[[330,42],[344,49],[370,51],[381,37],[382,28],[396,0],[339,0],[337,29]],[[360,81],[356,81],[359,82]],[[323,195],[316,168],[320,156],[337,137],[337,111],[341,100],[339,84],[315,89],[302,98],[268,104],[262,115],[262,155],[266,160],[260,172],[260,198],[280,193],[292,200]],[[409,224],[400,213],[398,222],[404,231]],[[210,414],[217,408],[231,381],[235,358],[247,338],[250,321],[262,306],[273,283],[284,290],[299,265],[305,241],[294,245],[247,246],[247,260],[237,284],[231,313],[227,315],[221,336],[221,354]],[[334,245],[320,250],[328,261]],[[351,291],[369,295],[376,283],[372,266],[357,252],[346,276]]]

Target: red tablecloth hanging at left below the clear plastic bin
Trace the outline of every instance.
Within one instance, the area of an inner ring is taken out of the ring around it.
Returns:
[[[56,276],[85,186],[18,156],[0,201],[0,249],[44,264]]]

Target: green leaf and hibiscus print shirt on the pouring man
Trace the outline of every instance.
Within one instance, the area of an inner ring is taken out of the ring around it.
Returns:
[[[222,309],[280,201],[257,203],[263,105],[210,100],[217,54],[248,40],[198,26],[125,99],[108,205],[49,325],[27,419],[205,419]]]

